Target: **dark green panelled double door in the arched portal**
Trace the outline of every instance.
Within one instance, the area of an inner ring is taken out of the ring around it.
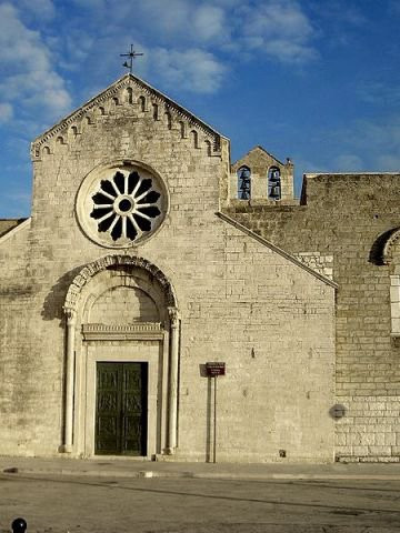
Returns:
[[[97,363],[94,453],[147,455],[147,363]]]

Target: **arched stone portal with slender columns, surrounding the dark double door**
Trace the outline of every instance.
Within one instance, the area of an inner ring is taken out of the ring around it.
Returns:
[[[63,451],[173,453],[180,323],[164,274],[142,258],[107,255],[82,268],[63,309]]]

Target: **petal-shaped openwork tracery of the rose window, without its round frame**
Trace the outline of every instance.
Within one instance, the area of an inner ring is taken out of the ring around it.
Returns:
[[[113,241],[121,237],[134,241],[151,231],[152,222],[160,217],[160,197],[151,178],[142,179],[137,171],[118,171],[100,182],[99,191],[92,195],[90,217],[97,220],[99,232],[110,233]]]

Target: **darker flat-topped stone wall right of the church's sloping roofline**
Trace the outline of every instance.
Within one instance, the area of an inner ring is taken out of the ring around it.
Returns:
[[[400,174],[312,175],[302,205],[229,210],[291,253],[334,258],[336,449],[348,461],[400,460],[400,345],[391,338],[390,272],[381,261],[382,235],[400,225],[399,183]]]

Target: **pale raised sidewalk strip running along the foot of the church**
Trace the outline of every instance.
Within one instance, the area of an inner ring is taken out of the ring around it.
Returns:
[[[114,477],[207,477],[246,480],[391,480],[400,481],[400,463],[186,463],[136,459],[1,457],[0,472]]]

